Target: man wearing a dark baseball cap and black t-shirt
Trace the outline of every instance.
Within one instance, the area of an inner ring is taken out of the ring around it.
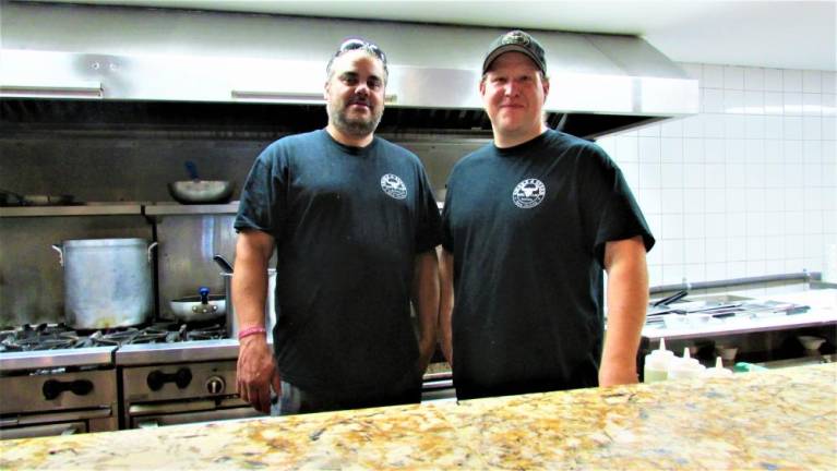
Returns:
[[[459,399],[637,381],[654,237],[608,155],[547,128],[549,88],[531,35],[491,44],[479,93],[493,142],[454,167],[442,215],[442,345]]]

